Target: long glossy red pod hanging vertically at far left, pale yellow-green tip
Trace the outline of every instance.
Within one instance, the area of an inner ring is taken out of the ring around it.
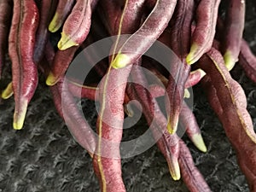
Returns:
[[[20,130],[26,108],[38,85],[38,68],[33,50],[38,28],[38,8],[33,0],[14,1],[14,15],[9,34],[9,56],[12,61],[15,95],[14,128]]]

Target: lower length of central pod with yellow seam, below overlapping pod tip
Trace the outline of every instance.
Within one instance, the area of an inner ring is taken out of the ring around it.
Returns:
[[[99,89],[101,108],[97,119],[98,143],[93,156],[96,176],[102,192],[125,192],[122,179],[119,143],[123,134],[125,87],[131,66],[109,67]],[[108,141],[108,143],[106,143]]]

